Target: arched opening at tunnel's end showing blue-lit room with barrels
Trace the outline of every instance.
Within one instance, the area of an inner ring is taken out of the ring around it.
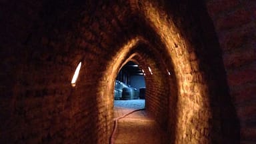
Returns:
[[[114,117],[119,109],[145,108],[145,73],[139,64],[128,61],[115,79]]]

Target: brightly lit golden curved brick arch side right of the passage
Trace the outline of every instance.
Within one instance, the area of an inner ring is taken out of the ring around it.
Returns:
[[[174,73],[171,77],[173,79],[170,82],[175,82],[176,85],[176,87],[171,86],[175,89],[171,89],[169,95],[171,141],[172,143],[219,142],[221,141],[219,136],[221,134],[218,134],[219,125],[215,126],[212,123],[221,120],[219,113],[215,113],[218,109],[211,109],[210,105],[210,103],[215,104],[211,97],[216,96],[214,90],[218,87],[215,80],[210,77],[215,74],[221,75],[221,72],[212,71],[209,66],[219,60],[216,58],[211,60],[211,57],[218,56],[219,53],[215,49],[211,51],[203,49],[204,46],[208,46],[206,44],[208,39],[202,41],[199,38],[203,37],[202,33],[197,31],[200,21],[197,22],[197,19],[191,16],[199,13],[193,5],[190,5],[191,3],[182,1],[179,4],[175,2],[167,4],[169,5],[144,1],[139,11],[142,11],[146,21],[149,21],[148,23],[155,29],[172,60],[172,66],[167,67],[173,68]],[[165,11],[165,9],[173,11]],[[171,15],[168,15],[169,13]],[[211,53],[211,57],[208,57],[210,60],[206,59],[209,55],[207,53]],[[212,137],[215,139],[213,140]]]

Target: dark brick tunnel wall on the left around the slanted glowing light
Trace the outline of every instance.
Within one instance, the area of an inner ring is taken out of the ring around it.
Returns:
[[[1,143],[108,143],[113,99],[100,82],[125,41],[128,3],[1,3]]]

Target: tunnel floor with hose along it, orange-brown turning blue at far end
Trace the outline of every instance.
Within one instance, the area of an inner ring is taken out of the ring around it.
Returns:
[[[119,100],[115,101],[115,117],[120,117],[134,111],[143,109],[145,100]],[[147,115],[145,110],[136,111],[119,119],[117,132],[114,135],[115,144],[165,144],[167,135],[159,125]]]

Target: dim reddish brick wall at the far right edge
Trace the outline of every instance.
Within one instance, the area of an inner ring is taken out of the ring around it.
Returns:
[[[255,1],[208,1],[207,10],[223,51],[241,143],[255,142]]]

